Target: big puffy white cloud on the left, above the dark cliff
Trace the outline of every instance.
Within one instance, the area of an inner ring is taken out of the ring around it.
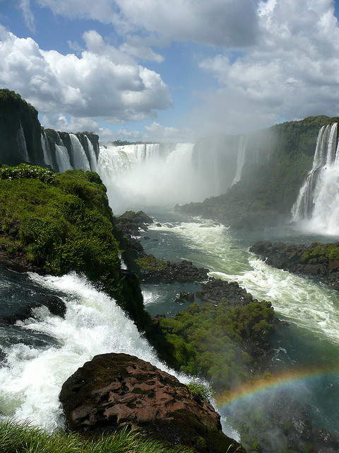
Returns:
[[[131,55],[106,45],[95,31],[83,35],[81,57],[44,51],[32,38],[17,38],[0,25],[0,83],[41,113],[126,120],[154,117],[171,105],[159,74],[136,64]]]

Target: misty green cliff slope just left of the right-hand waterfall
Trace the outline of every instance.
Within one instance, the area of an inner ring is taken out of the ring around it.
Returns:
[[[241,180],[223,195],[181,209],[235,228],[276,224],[290,215],[311,169],[320,128],[338,121],[338,117],[308,117],[249,134]]]

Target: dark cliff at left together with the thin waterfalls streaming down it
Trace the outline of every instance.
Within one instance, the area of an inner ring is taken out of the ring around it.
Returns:
[[[0,90],[0,163],[10,166],[27,162],[50,166],[54,171],[73,168],[95,171],[99,137],[93,132],[44,130],[37,110],[18,93]]]

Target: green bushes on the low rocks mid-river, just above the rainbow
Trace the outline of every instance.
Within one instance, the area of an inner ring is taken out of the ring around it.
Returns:
[[[242,343],[268,341],[274,311],[270,302],[230,306],[227,300],[188,309],[172,319],[159,319],[158,326],[169,344],[167,361],[183,372],[212,382],[216,390],[250,379],[255,357]]]

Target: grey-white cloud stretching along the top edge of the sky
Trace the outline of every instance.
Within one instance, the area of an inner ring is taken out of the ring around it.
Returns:
[[[146,30],[169,40],[242,47],[257,36],[253,0],[37,0],[54,13],[113,23],[121,32]]]

